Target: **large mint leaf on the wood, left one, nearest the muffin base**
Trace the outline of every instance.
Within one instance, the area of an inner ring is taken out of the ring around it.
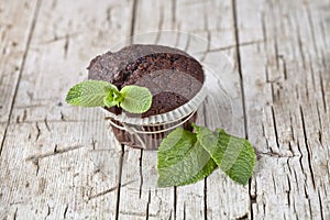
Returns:
[[[197,142],[196,134],[177,128],[158,148],[158,187],[196,183],[216,168],[216,163]]]

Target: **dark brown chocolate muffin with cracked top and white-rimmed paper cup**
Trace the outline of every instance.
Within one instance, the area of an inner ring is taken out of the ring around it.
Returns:
[[[205,77],[201,65],[191,56],[177,48],[160,45],[130,45],[118,52],[107,52],[90,62],[88,78],[106,80],[116,85],[119,89],[128,85],[143,86],[153,95],[152,107],[140,116],[147,118],[172,111],[196,96],[202,87]],[[116,114],[121,114],[122,109],[112,107],[107,109]],[[184,119],[183,119],[184,120]],[[184,123],[189,128],[190,121]],[[122,127],[119,121],[113,123]],[[144,131],[160,131],[167,125],[148,124]],[[124,130],[112,127],[116,138],[122,144],[133,147],[157,148],[162,138],[166,133],[142,135],[145,146],[141,146],[140,138]]]

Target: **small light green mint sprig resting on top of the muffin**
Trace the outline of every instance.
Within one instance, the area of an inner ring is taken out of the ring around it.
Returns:
[[[85,80],[69,89],[66,102],[80,107],[121,107],[131,113],[146,112],[152,105],[152,94],[145,87],[118,88],[101,80]]]

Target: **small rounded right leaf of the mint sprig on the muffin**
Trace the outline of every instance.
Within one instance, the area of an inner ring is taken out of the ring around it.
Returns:
[[[152,105],[152,94],[145,87],[125,86],[120,90],[122,100],[120,107],[131,113],[143,113]]]

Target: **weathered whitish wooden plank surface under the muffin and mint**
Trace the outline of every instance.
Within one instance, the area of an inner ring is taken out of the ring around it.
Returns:
[[[249,186],[216,170],[150,187],[154,152],[64,102],[91,57],[157,30],[208,38],[207,55],[234,64],[222,82],[230,132],[257,153]],[[330,219],[329,64],[329,0],[2,0],[0,219]]]

